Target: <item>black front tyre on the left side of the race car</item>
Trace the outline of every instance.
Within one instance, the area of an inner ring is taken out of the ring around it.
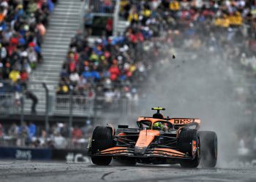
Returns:
[[[113,131],[110,127],[96,127],[91,138],[91,154],[113,146]],[[112,157],[91,157],[94,165],[109,165]]]

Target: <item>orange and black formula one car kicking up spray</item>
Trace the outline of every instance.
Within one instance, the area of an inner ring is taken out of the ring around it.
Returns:
[[[157,110],[153,117],[140,116],[138,128],[118,125],[96,127],[89,143],[89,155],[95,165],[109,165],[112,159],[127,165],[180,164],[204,167],[217,163],[217,135],[198,131],[200,119],[165,118]]]

